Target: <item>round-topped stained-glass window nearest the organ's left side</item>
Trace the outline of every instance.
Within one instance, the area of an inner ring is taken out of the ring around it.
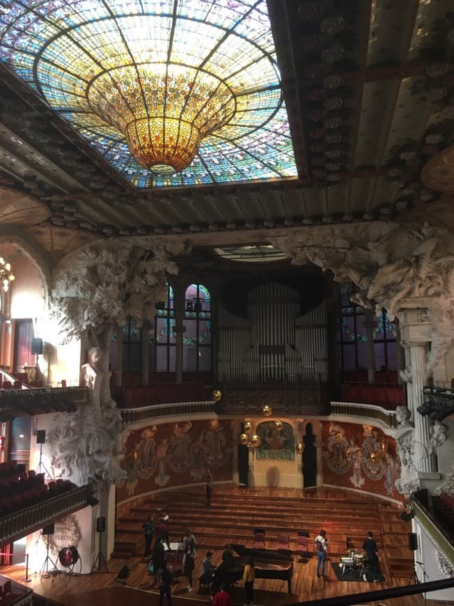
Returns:
[[[210,292],[201,284],[191,284],[185,293],[183,371],[211,371]]]

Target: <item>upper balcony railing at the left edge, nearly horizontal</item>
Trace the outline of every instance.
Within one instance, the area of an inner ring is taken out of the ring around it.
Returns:
[[[42,389],[0,389],[0,421],[10,421],[23,414],[74,412],[78,402],[87,400],[86,387]]]

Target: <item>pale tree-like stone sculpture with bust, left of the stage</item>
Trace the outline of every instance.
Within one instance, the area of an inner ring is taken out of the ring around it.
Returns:
[[[124,479],[122,420],[110,394],[109,345],[114,329],[132,318],[140,327],[166,298],[166,279],[177,272],[170,256],[183,242],[146,238],[91,244],[63,259],[54,273],[52,308],[66,339],[88,334],[93,345],[81,366],[88,401],[73,415],[60,414],[48,441],[52,465],[75,483]]]

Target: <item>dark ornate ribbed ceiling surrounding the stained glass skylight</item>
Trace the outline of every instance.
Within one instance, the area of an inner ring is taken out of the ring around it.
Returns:
[[[194,5],[175,3],[185,4]],[[260,2],[216,4],[242,10]],[[65,14],[66,6],[69,15],[75,3],[2,0],[1,22],[24,6],[35,14]],[[454,132],[451,10],[449,0],[268,0],[297,176],[233,184],[138,189],[15,74],[3,50],[0,210],[10,223],[33,223],[48,250],[55,233],[70,247],[112,235],[185,235],[193,247],[221,247],[266,244],[267,235],[314,225],[408,213],[430,220],[451,187],[443,173]]]

